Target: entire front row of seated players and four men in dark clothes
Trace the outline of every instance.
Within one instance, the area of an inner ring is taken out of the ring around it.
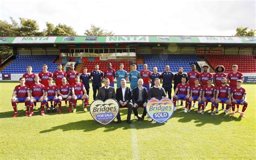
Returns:
[[[75,76],[75,82],[70,85],[67,83],[66,77],[61,78],[61,84],[56,86],[53,84],[53,78],[48,77],[48,85],[42,84],[42,79],[40,77],[34,76],[34,84],[31,86],[26,85],[26,78],[22,77],[19,79],[20,84],[17,85],[12,94],[11,104],[14,108],[14,117],[17,117],[17,103],[25,103],[26,112],[25,115],[31,117],[33,113],[33,107],[36,102],[41,103],[41,115],[44,115],[45,110],[50,113],[50,108],[52,112],[62,113],[62,101],[68,101],[69,112],[76,112],[77,100],[83,101],[84,111],[87,112],[87,105],[89,104],[89,91],[86,91],[85,85],[80,81],[80,76]],[[130,79],[129,79],[130,80]],[[247,108],[246,101],[246,91],[241,87],[242,80],[238,79],[236,81],[236,86],[231,88],[227,85],[227,78],[221,77],[221,84],[215,88],[212,85],[212,78],[207,79],[207,85],[203,87],[199,84],[199,79],[194,78],[194,85],[190,86],[187,82],[187,77],[181,77],[181,83],[179,83],[172,96],[174,103],[174,111],[177,110],[177,100],[185,101],[184,112],[191,112],[192,101],[198,101],[197,113],[204,114],[206,103],[211,102],[211,115],[219,113],[218,107],[219,103],[226,104],[224,108],[224,114],[231,111],[231,116],[235,115],[235,105],[243,105],[242,111],[240,112],[241,117],[245,117],[245,110]],[[120,87],[115,91],[113,86],[110,86],[110,79],[104,79],[104,86],[99,87],[97,96],[95,100],[107,100],[116,99],[119,107],[127,107],[127,118],[126,122],[131,123],[132,111],[138,120],[144,120],[147,111],[146,105],[147,101],[150,99],[162,99],[167,97],[164,87],[160,86],[160,78],[154,78],[154,85],[148,90],[145,88],[144,81],[139,78],[137,85],[133,86],[133,89],[126,85],[126,79],[119,79]],[[131,82],[131,81],[130,81]],[[134,85],[134,83],[133,83]],[[169,95],[170,96],[170,95]],[[170,97],[169,97],[170,98]],[[171,98],[170,98],[171,99]],[[48,101],[53,103],[49,107]],[[46,107],[46,108],[45,108]],[[138,108],[144,107],[142,116],[138,114]],[[120,113],[117,114],[116,123],[120,123]]]

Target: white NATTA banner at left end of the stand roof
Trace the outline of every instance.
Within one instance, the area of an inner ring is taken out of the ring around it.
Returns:
[[[56,37],[16,37],[12,43],[54,43]]]

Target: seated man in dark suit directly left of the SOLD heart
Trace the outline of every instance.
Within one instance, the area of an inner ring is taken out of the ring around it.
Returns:
[[[146,104],[147,104],[147,89],[142,86],[143,79],[138,79],[138,86],[133,89],[132,91],[132,103],[133,103],[133,112],[134,115],[138,118],[138,120],[144,120],[145,115],[147,114],[146,111]],[[138,107],[144,107],[144,111],[142,117],[139,117],[138,114]]]

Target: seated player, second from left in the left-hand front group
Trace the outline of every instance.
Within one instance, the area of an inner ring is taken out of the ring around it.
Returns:
[[[33,103],[36,101],[41,102],[41,115],[44,115],[44,85],[39,82],[39,76],[35,76],[35,84],[30,86],[30,113],[29,117],[34,115]]]

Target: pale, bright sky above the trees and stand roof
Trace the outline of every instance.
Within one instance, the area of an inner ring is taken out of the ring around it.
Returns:
[[[83,35],[91,24],[116,35],[233,35],[256,28],[255,1],[13,1],[0,0],[0,19],[36,19],[72,26]]]

